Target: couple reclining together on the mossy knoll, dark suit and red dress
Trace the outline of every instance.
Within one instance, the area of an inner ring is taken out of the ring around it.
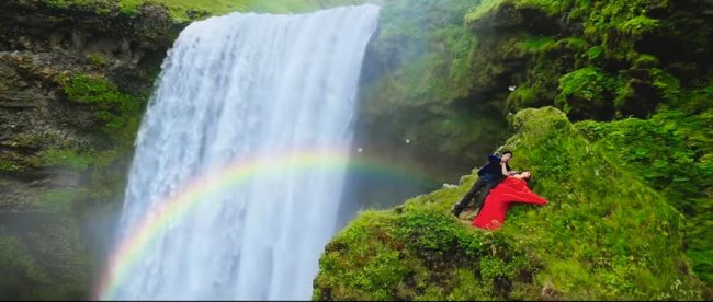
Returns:
[[[453,207],[453,214],[459,217],[467,207],[471,199],[478,190],[480,195],[476,199],[478,214],[473,220],[473,226],[486,230],[500,229],[505,217],[508,213],[511,202],[524,202],[545,205],[547,200],[534,194],[528,187],[530,171],[511,171],[508,162],[512,152],[502,152],[502,158],[489,155],[488,163],[478,170],[478,179],[473,184],[471,190]]]

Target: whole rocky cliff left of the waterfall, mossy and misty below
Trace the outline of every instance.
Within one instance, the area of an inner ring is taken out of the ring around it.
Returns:
[[[86,293],[79,218],[121,198],[140,113],[181,26],[162,7],[0,3],[1,298]]]

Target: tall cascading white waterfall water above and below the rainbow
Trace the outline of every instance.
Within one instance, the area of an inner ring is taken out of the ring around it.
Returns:
[[[134,236],[151,209],[181,198],[195,177],[240,159],[307,149],[348,156],[377,18],[367,4],[233,13],[188,26],[138,133],[118,237]],[[344,171],[290,166],[186,197],[202,200],[150,239],[110,298],[309,299],[336,232]]]

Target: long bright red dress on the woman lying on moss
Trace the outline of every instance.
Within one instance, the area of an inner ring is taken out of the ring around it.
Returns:
[[[483,210],[473,220],[473,226],[500,229],[511,202],[545,205],[547,200],[531,191],[524,181],[507,176],[485,198]]]

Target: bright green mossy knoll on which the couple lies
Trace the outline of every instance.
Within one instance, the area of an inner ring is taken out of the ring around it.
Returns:
[[[463,177],[387,211],[366,211],[327,245],[317,300],[699,300],[682,216],[552,107],[513,119],[505,148],[533,172],[543,207],[513,206],[486,232],[449,213]],[[710,299],[710,298],[709,298]]]

